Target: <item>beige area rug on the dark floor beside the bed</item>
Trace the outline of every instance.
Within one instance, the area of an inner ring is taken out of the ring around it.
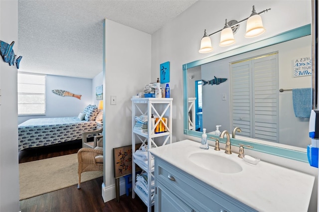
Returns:
[[[101,176],[101,171],[84,172],[81,183]],[[77,154],[20,163],[19,182],[20,200],[77,185]]]

